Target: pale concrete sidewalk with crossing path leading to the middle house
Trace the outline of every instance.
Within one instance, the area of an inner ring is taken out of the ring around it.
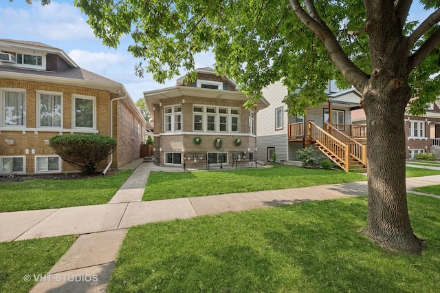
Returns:
[[[331,184],[251,193],[231,193],[142,202],[151,171],[179,172],[137,160],[126,166],[133,175],[109,204],[0,213],[0,241],[80,235],[72,247],[30,292],[105,292],[127,228],[156,221],[188,219],[228,211],[249,210],[366,194],[366,182]],[[440,175],[406,180],[408,190],[439,184]],[[30,272],[32,274],[39,272]]]

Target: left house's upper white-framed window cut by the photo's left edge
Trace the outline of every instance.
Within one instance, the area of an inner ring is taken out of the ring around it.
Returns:
[[[5,89],[1,92],[1,125],[26,126],[26,93]]]

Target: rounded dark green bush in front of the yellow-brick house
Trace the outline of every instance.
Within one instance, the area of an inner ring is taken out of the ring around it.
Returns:
[[[82,173],[93,174],[99,162],[116,148],[116,140],[104,135],[56,135],[50,146],[63,160],[80,168]]]

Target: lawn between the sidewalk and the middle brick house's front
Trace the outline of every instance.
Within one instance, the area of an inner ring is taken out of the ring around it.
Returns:
[[[366,180],[366,176],[359,173],[279,165],[264,169],[151,172],[142,200],[267,191],[362,180]]]

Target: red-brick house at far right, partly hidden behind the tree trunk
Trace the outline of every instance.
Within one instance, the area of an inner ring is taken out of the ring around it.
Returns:
[[[353,123],[366,124],[364,110],[353,111]],[[428,105],[422,116],[405,115],[406,159],[419,153],[440,158],[440,100]]]

